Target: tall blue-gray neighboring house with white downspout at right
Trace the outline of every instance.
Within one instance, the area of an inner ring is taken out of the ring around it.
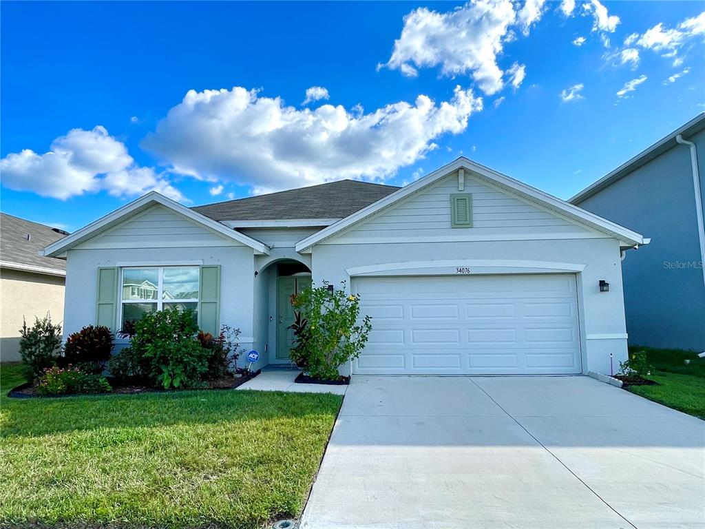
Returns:
[[[570,199],[651,237],[622,264],[630,344],[705,351],[704,170],[705,113]]]

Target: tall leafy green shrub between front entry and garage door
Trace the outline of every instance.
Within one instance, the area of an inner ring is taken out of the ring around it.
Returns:
[[[307,288],[294,298],[294,308],[307,320],[305,334],[297,341],[297,355],[305,360],[312,377],[338,379],[338,367],[360,356],[372,330],[371,318],[360,317],[360,296],[342,288],[329,291],[329,283]]]

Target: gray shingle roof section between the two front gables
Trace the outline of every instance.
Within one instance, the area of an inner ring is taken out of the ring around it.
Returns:
[[[398,189],[379,183],[340,180],[192,209],[216,221],[343,219]]]

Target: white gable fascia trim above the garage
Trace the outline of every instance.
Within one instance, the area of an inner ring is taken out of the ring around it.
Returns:
[[[563,217],[567,217],[568,219],[575,221],[576,224],[587,226],[596,231],[600,231],[601,233],[605,233],[608,236],[614,237],[618,239],[618,241],[620,241],[620,245],[625,248],[647,244],[649,242],[648,239],[644,239],[644,237],[639,233],[627,229],[624,226],[620,226],[619,224],[615,224],[607,219],[603,219],[594,213],[569,204],[568,202],[565,202],[565,200],[560,200],[560,198],[556,198],[553,195],[548,195],[548,193],[544,193],[541,190],[527,186],[525,183],[488,169],[487,167],[472,162],[465,157],[460,157],[456,159],[455,162],[451,162],[450,164],[441,167],[441,169],[438,169],[423,178],[419,178],[419,180],[414,183],[410,183],[408,186],[396,190],[391,195],[387,195],[381,200],[374,202],[374,204],[364,207],[363,209],[360,209],[360,211],[351,214],[349,217],[345,217],[345,219],[341,219],[335,224],[331,224],[331,226],[321,229],[321,231],[317,231],[313,235],[302,239],[296,243],[296,251],[302,252],[309,250],[309,248],[313,245],[336,235],[336,233],[340,233],[348,227],[353,226],[353,224],[357,224],[364,219],[367,219],[382,209],[391,207],[399,200],[409,197],[414,193],[418,193],[420,190],[438,181],[440,178],[444,178],[451,172],[458,171],[459,169],[467,169],[468,171],[471,171],[470,176],[479,178],[479,180],[500,188],[507,193],[561,214]]]

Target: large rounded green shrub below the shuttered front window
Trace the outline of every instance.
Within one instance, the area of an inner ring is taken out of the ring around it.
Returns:
[[[133,355],[152,384],[164,389],[199,385],[211,353],[197,341],[197,331],[191,310],[150,312],[135,323]]]

